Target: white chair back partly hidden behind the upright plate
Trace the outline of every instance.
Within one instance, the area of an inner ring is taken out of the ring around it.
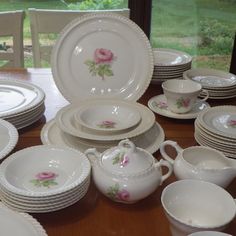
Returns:
[[[29,8],[34,67],[43,67],[43,61],[50,64],[51,52],[56,37],[67,24],[75,18],[94,12],[112,12],[124,15],[128,18],[130,16],[130,10],[127,8],[96,11],[45,10]],[[53,35],[50,36],[50,34]],[[45,44],[43,35],[49,35],[49,37],[52,38],[49,44]]]

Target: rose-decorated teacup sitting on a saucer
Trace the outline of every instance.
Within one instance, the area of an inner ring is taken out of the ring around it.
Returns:
[[[206,95],[199,102],[206,101],[209,97],[208,91],[203,90],[201,84],[191,80],[167,80],[162,83],[162,89],[168,108],[174,113],[187,113],[192,110],[201,91]]]

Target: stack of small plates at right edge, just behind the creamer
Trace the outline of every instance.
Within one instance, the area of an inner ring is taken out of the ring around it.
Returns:
[[[236,106],[216,106],[202,111],[195,120],[194,136],[200,145],[236,158]]]

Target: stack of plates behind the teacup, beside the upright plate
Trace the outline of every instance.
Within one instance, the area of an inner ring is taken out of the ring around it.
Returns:
[[[183,72],[189,70],[192,57],[181,51],[168,48],[154,48],[154,71],[152,82],[168,79],[182,79]]]

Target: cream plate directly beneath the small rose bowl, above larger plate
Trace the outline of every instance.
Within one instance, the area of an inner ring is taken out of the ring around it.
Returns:
[[[155,123],[155,115],[149,108],[140,103],[133,103],[133,106],[139,112],[141,121],[133,129],[128,129],[127,132],[103,134],[94,132],[93,130],[89,130],[83,126],[76,124],[74,120],[74,114],[78,109],[78,106],[76,104],[69,104],[59,110],[56,114],[56,123],[58,127],[65,133],[79,138],[97,141],[111,141],[131,138],[144,133]]]

